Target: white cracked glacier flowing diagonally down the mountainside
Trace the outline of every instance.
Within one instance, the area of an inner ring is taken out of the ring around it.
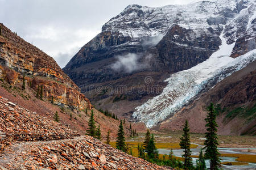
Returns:
[[[133,117],[144,122],[147,128],[152,128],[168,116],[173,116],[206,88],[213,87],[225,77],[255,61],[256,49],[237,58],[229,57],[234,43],[227,44],[224,33],[221,33],[220,38],[222,44],[219,50],[191,69],[172,74],[165,80],[168,84],[162,94],[135,108]]]

